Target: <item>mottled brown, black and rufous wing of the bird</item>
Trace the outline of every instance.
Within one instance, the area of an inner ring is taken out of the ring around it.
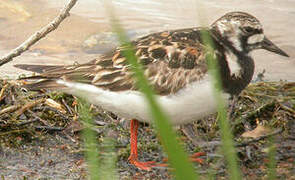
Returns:
[[[157,94],[175,93],[204,77],[207,65],[200,39],[198,29],[182,29],[150,34],[132,42],[144,73]],[[86,64],[49,68],[38,76],[27,78],[41,79],[28,86],[30,89],[59,88],[55,80],[61,78],[111,91],[136,90],[123,50],[119,47]]]

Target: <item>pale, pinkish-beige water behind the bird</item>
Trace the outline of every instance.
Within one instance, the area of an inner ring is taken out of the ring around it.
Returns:
[[[67,0],[1,0],[0,53],[15,48],[36,30],[50,22]],[[266,69],[266,78],[295,80],[295,1],[211,0],[116,0],[115,12],[131,37],[153,31],[208,25],[228,11],[255,15],[265,34],[291,58],[254,52],[256,71]],[[58,30],[34,45],[29,52],[0,67],[0,76],[16,76],[23,71],[16,63],[72,64],[87,62],[114,47],[114,37],[101,1],[78,1]]]

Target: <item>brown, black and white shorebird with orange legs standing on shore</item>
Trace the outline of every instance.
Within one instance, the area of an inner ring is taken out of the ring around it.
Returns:
[[[227,104],[252,80],[255,69],[252,51],[264,49],[289,57],[266,37],[256,17],[240,11],[228,12],[208,27],[165,30],[131,41],[157,102],[173,125],[198,120],[217,109],[202,32],[207,32],[214,44],[221,94]],[[130,120],[128,160],[139,169],[150,170],[153,163],[138,158],[137,129],[139,122],[150,123],[152,118],[124,50],[124,46],[119,45],[85,64],[17,64],[15,67],[40,73],[25,77],[33,80],[25,85],[30,90],[60,89],[85,96],[90,103]]]

